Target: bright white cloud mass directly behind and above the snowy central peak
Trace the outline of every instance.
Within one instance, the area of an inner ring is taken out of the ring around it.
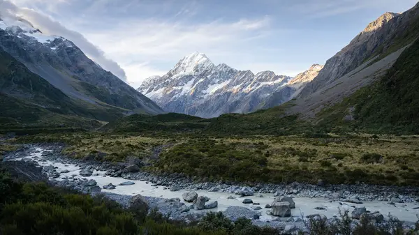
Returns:
[[[161,75],[152,64],[170,63],[171,68],[182,56],[195,51],[206,53],[216,63],[228,63],[226,56],[235,56],[250,40],[269,36],[269,27],[269,17],[196,24],[152,19],[125,21],[103,31],[83,33],[119,61],[130,84],[140,84],[150,75]],[[159,73],[152,74],[154,71]]]

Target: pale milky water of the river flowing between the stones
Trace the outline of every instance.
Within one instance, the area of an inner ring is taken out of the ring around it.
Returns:
[[[126,182],[127,179],[123,179],[121,177],[110,177],[105,176],[105,172],[98,172],[94,171],[92,176],[84,177],[80,176],[80,167],[73,164],[64,164],[62,162],[53,162],[50,160],[45,160],[41,156],[44,151],[49,151],[47,149],[36,148],[36,151],[31,153],[29,156],[24,158],[15,158],[13,160],[25,160],[31,159],[36,160],[39,165],[41,166],[49,166],[52,165],[57,167],[57,172],[61,172],[64,170],[68,170],[68,173],[60,174],[59,178],[56,179],[58,181],[63,180],[64,178],[68,178],[73,176],[75,179],[77,178],[86,178],[86,179],[94,179],[101,188],[103,185],[108,185],[112,183],[113,185],[117,185],[117,188],[114,190],[105,190],[102,189],[102,192],[112,192],[115,194],[120,195],[143,195],[149,197],[161,197],[161,198],[175,198],[178,197],[182,199],[182,194],[187,190],[179,190],[176,192],[171,192],[168,189],[163,189],[163,186],[152,186],[151,183],[146,181],[136,181],[136,180],[129,180],[134,182],[134,185],[119,185],[119,183]],[[195,211],[196,213],[207,213],[208,211],[225,211],[228,206],[242,206],[251,209],[252,204],[243,204],[242,200],[245,198],[252,199],[253,202],[259,203],[260,207],[262,207],[259,212],[261,213],[260,220],[273,220],[274,217],[271,215],[267,215],[266,211],[270,209],[265,209],[266,204],[272,204],[274,201],[273,194],[261,194],[263,197],[250,196],[250,197],[237,197],[237,195],[233,195],[227,192],[208,192],[207,190],[196,190],[198,195],[210,197],[210,202],[216,200],[218,201],[218,207],[216,209],[207,209],[203,211]],[[235,197],[235,199],[228,199],[229,196]],[[416,222],[418,220],[417,214],[419,213],[419,209],[413,209],[419,206],[418,203],[402,203],[402,204],[395,204],[390,205],[388,202],[381,202],[381,201],[372,201],[372,202],[363,202],[363,204],[351,204],[346,202],[331,202],[330,199],[327,198],[308,198],[308,197],[294,197],[295,202],[295,209],[291,210],[291,213],[295,217],[300,217],[302,215],[313,215],[313,214],[321,214],[325,215],[328,218],[331,218],[334,215],[339,215],[340,211],[352,211],[353,206],[361,207],[365,206],[368,211],[374,212],[379,211],[383,215],[387,216],[389,213],[402,221],[408,222]],[[186,205],[189,205],[186,203]],[[316,207],[322,207],[325,210],[316,210]]]

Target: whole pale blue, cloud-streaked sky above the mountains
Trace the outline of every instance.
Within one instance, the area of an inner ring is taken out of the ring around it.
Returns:
[[[187,54],[237,70],[295,76],[324,64],[369,22],[417,0],[0,0],[64,36],[138,88]]]

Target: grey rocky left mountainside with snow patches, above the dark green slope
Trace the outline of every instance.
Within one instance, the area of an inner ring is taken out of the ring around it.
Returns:
[[[1,18],[0,47],[31,73],[89,108],[112,109],[112,112],[125,114],[163,112],[152,100],[91,61],[70,40],[46,35],[27,20]]]

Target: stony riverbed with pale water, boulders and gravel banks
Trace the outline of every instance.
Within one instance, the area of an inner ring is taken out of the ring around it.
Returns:
[[[165,215],[170,215],[171,220],[198,220],[210,211],[223,211],[227,218],[235,221],[238,218],[251,219],[258,226],[281,227],[293,226],[295,229],[304,229],[305,215],[325,215],[328,218],[339,216],[339,211],[351,211],[355,207],[366,207],[369,211],[379,211],[383,215],[392,215],[405,221],[405,227],[414,226],[416,213],[419,208],[414,195],[398,195],[388,191],[395,188],[382,188],[381,192],[359,192],[360,187],[344,188],[344,185],[335,188],[313,186],[311,189],[293,184],[291,189],[284,185],[263,185],[244,187],[226,185],[222,183],[184,183],[184,179],[173,179],[172,176],[153,176],[142,172],[125,172],[121,176],[112,176],[112,166],[92,160],[76,160],[61,156],[63,148],[59,144],[25,145],[23,149],[8,153],[7,161],[34,161],[43,166],[43,171],[50,177],[53,184],[61,187],[70,187],[75,190],[95,194],[102,191],[107,197],[116,200],[124,206],[133,195],[147,197],[150,206],[159,208]],[[84,175],[85,169],[92,169],[91,174]],[[30,174],[27,172],[27,174]],[[132,185],[121,185],[124,182]],[[93,183],[92,183],[93,182]],[[115,185],[107,188],[107,185]],[[368,185],[362,185],[368,187]],[[174,190],[173,187],[176,187]],[[103,189],[102,189],[103,188]],[[216,188],[216,190],[214,190]],[[272,193],[272,189],[275,192]],[[169,190],[170,189],[170,190]],[[411,192],[411,188],[400,188],[401,192]],[[87,191],[86,191],[87,190]],[[214,209],[203,211],[186,209],[190,203],[174,203],[172,198],[182,198],[185,192],[195,190],[198,195],[210,197],[210,202],[218,202]],[[248,190],[247,196],[237,195],[237,190]],[[269,191],[270,190],[270,191]],[[346,190],[346,191],[343,191]],[[358,191],[358,192],[357,192]],[[266,204],[272,204],[279,195],[292,195],[295,209],[291,218],[277,218],[270,215],[271,209]],[[383,197],[387,196],[387,197]],[[314,198],[316,197],[316,198]],[[260,209],[252,204],[243,204],[243,199],[251,199],[253,203],[260,204]],[[381,200],[381,201],[378,201]],[[386,202],[388,201],[388,202]],[[177,206],[176,206],[177,205]],[[390,220],[385,216],[385,220]]]

